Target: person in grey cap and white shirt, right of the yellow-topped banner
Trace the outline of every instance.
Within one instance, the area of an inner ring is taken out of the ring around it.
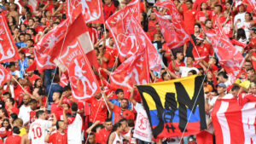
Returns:
[[[226,94],[227,86],[224,83],[219,83],[217,87],[218,96],[212,98],[210,102],[208,102],[209,98],[206,98],[206,111],[209,112],[214,107],[214,104],[217,100],[220,99],[232,99],[234,96],[232,94]]]

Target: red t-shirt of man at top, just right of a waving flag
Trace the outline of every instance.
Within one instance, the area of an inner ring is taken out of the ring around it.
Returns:
[[[194,33],[194,25],[195,25],[195,15],[197,11],[195,9],[183,9],[183,19],[184,19],[184,25],[189,34]]]

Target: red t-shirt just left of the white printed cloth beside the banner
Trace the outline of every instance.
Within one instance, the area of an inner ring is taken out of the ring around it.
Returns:
[[[114,123],[118,123],[119,120],[125,119],[134,119],[134,114],[130,110],[122,110],[121,107],[113,105],[113,113],[114,113]]]

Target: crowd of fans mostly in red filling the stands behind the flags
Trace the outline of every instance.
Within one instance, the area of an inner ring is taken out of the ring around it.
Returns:
[[[29,1],[1,1],[1,13],[6,16],[20,60],[3,63],[19,84],[11,79],[0,86],[0,144],[149,143],[133,137],[137,111],[145,111],[136,88],[128,91],[109,88],[106,94],[102,91],[87,101],[73,101],[70,85],[61,86],[58,68],[41,73],[37,70],[26,71],[34,61],[34,46],[47,32],[67,19],[65,0],[38,0],[36,8],[32,8]],[[254,8],[247,0],[173,0],[196,45],[198,52],[195,52],[191,43],[177,49],[166,46],[153,10],[156,9],[155,1],[140,1],[141,26],[166,65],[160,72],[150,72],[151,81],[156,83],[194,74],[206,76],[203,88],[208,129],[183,138],[152,138],[152,143],[204,143],[206,138],[214,143],[211,111],[215,101],[256,95]],[[104,19],[108,20],[129,2],[103,0]],[[216,20],[220,21],[230,40],[239,42],[234,45],[245,58],[235,83],[218,63],[212,45],[203,32],[203,27],[207,31],[215,31]],[[115,49],[113,37],[102,24],[87,26],[101,67],[101,73],[96,72],[96,77],[99,84],[106,87],[108,85],[102,84],[101,80],[108,81],[109,74],[121,64],[118,50]],[[197,53],[205,58],[195,62]],[[241,104],[246,102],[247,99],[241,100]]]

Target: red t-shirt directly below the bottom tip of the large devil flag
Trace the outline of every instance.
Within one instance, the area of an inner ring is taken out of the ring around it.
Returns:
[[[107,117],[107,107],[105,102],[101,100],[96,100],[95,96],[92,96],[90,99],[88,99],[86,102],[90,103],[90,116],[89,116],[89,121],[94,122],[96,120],[101,121],[101,123],[105,122],[105,119]],[[96,112],[98,113],[96,114]]]

